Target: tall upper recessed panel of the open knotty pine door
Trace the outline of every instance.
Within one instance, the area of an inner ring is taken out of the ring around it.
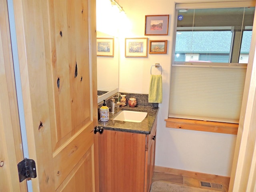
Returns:
[[[68,10],[68,11],[67,11]],[[54,150],[90,121],[88,2],[54,0],[52,38],[55,45],[52,84],[56,115]],[[59,142],[59,143],[58,143]]]

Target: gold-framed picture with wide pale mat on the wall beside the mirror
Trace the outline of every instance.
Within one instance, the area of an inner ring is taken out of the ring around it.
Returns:
[[[125,38],[126,57],[147,57],[148,38]]]

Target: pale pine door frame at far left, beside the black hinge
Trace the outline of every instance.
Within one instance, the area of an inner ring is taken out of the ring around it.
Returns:
[[[0,191],[23,192],[17,164],[23,160],[6,0],[0,0]]]

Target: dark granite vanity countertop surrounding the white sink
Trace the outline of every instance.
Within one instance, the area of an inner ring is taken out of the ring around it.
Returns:
[[[148,114],[146,118],[140,123],[112,120],[112,117],[116,115],[120,110],[141,111],[141,112],[147,112]],[[114,114],[109,113],[109,121],[102,122],[99,120],[98,127],[103,127],[105,130],[150,134],[152,127],[154,125],[154,122],[156,121],[157,113],[158,113],[158,107],[149,107],[149,106],[116,107]]]

